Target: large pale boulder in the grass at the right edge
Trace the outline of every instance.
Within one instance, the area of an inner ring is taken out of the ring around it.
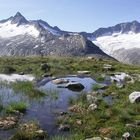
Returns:
[[[129,95],[129,100],[131,103],[140,102],[140,92],[135,91]]]

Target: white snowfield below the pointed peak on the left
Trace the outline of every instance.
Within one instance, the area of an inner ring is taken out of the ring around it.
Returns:
[[[0,23],[0,37],[9,38],[17,35],[29,34],[33,37],[39,36],[39,31],[33,25],[11,24],[11,21]]]

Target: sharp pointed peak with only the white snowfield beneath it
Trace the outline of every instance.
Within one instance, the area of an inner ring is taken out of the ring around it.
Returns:
[[[39,31],[19,12],[15,16],[0,22],[0,37],[10,38],[18,35],[39,36]]]

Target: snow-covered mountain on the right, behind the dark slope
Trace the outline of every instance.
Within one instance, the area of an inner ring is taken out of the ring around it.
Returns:
[[[140,65],[140,23],[138,21],[99,28],[93,33],[81,32],[80,34],[117,60]]]

